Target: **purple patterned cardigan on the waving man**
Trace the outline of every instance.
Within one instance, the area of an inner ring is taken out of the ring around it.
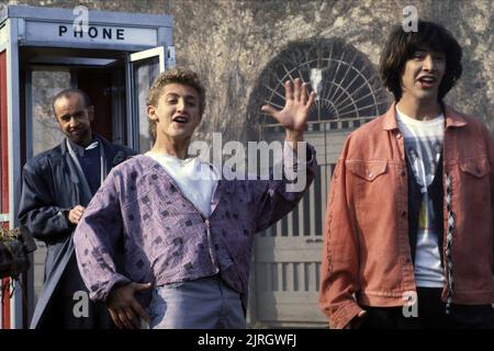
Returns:
[[[307,180],[301,192],[287,192],[287,180],[220,180],[207,218],[151,158],[139,155],[113,168],[74,235],[90,297],[105,301],[115,284],[162,285],[220,273],[247,308],[254,234],[302,199],[316,168],[310,145],[307,160],[306,168],[299,166]]]

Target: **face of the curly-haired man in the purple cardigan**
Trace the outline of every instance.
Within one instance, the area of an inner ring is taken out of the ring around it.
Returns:
[[[199,93],[189,86],[170,83],[162,88],[156,106],[148,106],[156,121],[157,140],[187,141],[201,122]]]

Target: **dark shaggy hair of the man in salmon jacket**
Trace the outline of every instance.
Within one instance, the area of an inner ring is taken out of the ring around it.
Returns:
[[[451,90],[462,72],[460,44],[442,25],[418,21],[417,32],[405,32],[402,25],[395,26],[381,54],[380,73],[384,86],[398,101],[402,98],[401,77],[405,63],[418,49],[445,54],[446,71],[438,91],[438,101]]]

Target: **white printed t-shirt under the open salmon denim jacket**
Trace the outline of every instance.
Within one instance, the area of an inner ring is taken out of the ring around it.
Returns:
[[[405,140],[405,152],[420,186],[423,201],[418,214],[417,246],[415,248],[415,281],[417,286],[442,287],[445,273],[441,267],[438,235],[434,230],[433,202],[427,192],[436,174],[445,137],[445,115],[418,121],[396,107],[396,121]]]

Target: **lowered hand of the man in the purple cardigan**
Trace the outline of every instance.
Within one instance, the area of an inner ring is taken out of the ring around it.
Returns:
[[[135,299],[134,294],[150,287],[150,283],[130,283],[114,287],[110,292],[106,306],[116,327],[120,329],[141,329],[141,318],[149,321],[149,317],[137,299]]]

